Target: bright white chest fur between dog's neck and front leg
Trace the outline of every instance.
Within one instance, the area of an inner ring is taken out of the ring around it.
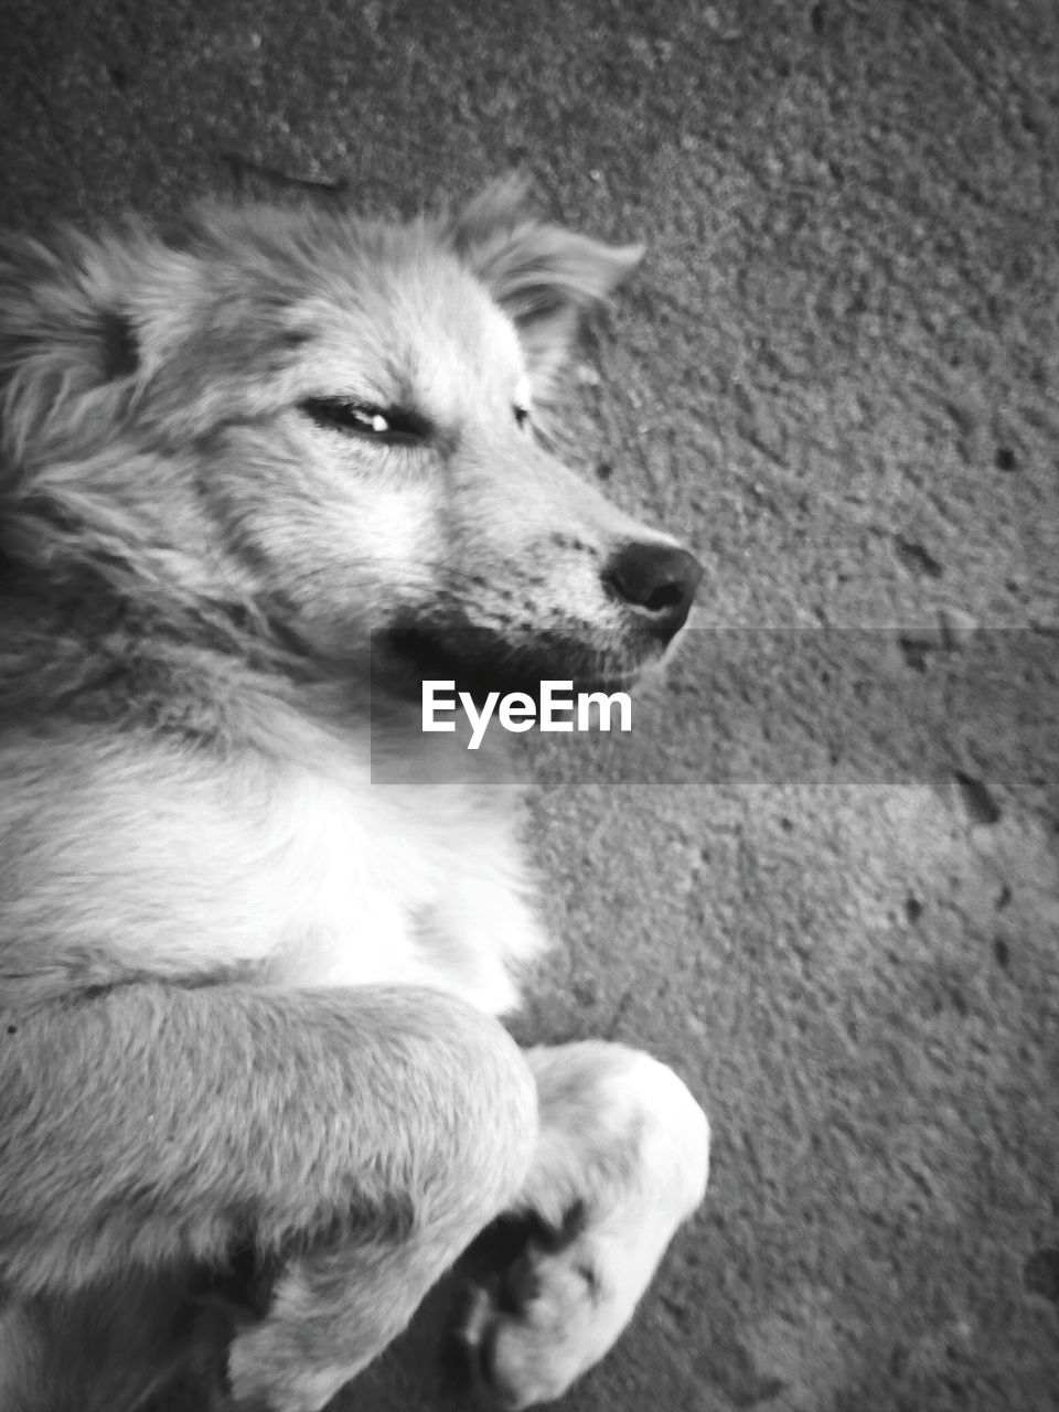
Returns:
[[[220,764],[113,738],[86,753],[80,740],[54,747],[47,774],[28,762],[21,819],[0,820],[18,854],[3,902],[18,940],[3,969],[246,970],[280,986],[425,984],[511,1008],[541,938],[501,791],[377,784],[366,755],[328,746]]]

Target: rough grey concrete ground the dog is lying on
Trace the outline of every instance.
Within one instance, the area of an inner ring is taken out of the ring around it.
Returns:
[[[7,223],[520,164],[650,244],[572,455],[706,580],[631,743],[534,751],[520,1032],[672,1062],[714,1176],[569,1412],[1059,1406],[1059,10],[0,8]],[[340,1406],[466,1406],[452,1298]]]

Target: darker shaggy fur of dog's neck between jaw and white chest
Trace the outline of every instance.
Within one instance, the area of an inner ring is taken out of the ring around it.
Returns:
[[[505,774],[496,743],[469,758],[453,737],[424,737],[419,714],[418,695],[373,674],[370,647],[363,659],[323,654],[282,611],[131,593],[93,565],[45,573],[0,555],[7,726],[97,723],[222,754],[284,754],[284,731],[318,737],[313,754],[328,740],[340,751],[343,737],[367,731],[384,782]]]

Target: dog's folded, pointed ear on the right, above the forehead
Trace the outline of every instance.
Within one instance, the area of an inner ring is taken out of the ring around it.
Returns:
[[[514,319],[539,395],[565,361],[580,313],[610,295],[644,247],[606,246],[541,222],[527,209],[525,193],[525,178],[503,178],[455,216],[446,233]]]

